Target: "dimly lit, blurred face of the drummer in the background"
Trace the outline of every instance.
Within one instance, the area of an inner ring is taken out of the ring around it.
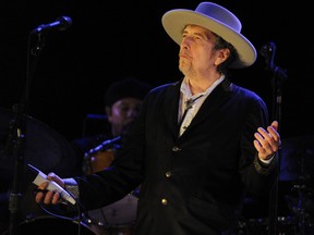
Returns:
[[[142,100],[123,98],[106,109],[113,136],[121,135],[123,126],[134,121],[142,108]]]

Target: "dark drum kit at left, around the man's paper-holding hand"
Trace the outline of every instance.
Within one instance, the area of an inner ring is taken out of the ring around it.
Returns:
[[[0,108],[0,234],[8,235],[10,227],[10,191],[15,174],[16,159],[13,154],[12,145],[13,112],[10,109]],[[75,152],[67,139],[53,128],[29,115],[23,115],[26,123],[23,163],[31,163],[44,173],[55,172],[61,177],[77,175],[81,166]],[[99,157],[96,157],[99,153]],[[102,152],[104,153],[104,152]],[[98,171],[100,165],[112,161],[112,152],[107,152],[107,159],[100,158],[100,152],[90,154],[94,159],[92,164]],[[108,160],[110,156],[111,160]],[[98,162],[100,161],[100,162]],[[102,162],[105,161],[105,162]],[[136,217],[137,194],[130,193],[121,200],[82,214],[82,220],[69,220],[47,213],[34,199],[34,185],[25,171],[22,174],[21,206],[19,230],[23,234],[56,233],[81,234],[81,235],[131,235]],[[52,212],[58,213],[56,208]],[[78,233],[80,231],[80,233]]]

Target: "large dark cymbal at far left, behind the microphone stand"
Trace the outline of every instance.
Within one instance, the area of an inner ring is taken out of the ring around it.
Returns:
[[[14,147],[11,141],[13,139],[10,139],[10,136],[14,135],[10,129],[12,120],[14,120],[13,111],[0,108],[1,180],[11,180],[14,173],[16,158],[13,156]],[[60,133],[39,120],[25,114],[22,120],[26,124],[22,149],[25,165],[31,163],[45,173],[55,172],[61,177],[75,174],[77,159],[75,159],[70,143]]]

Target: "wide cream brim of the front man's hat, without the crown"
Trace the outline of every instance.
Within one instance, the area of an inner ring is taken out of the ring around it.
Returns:
[[[178,45],[181,44],[183,29],[189,24],[205,27],[219,35],[231,44],[239,54],[239,60],[231,64],[232,67],[246,67],[256,60],[254,46],[242,34],[202,13],[184,9],[172,10],[164,14],[161,23],[167,34]]]

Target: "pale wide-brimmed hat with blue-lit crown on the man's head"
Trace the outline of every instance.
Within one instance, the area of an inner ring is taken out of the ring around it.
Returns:
[[[176,9],[168,11],[161,18],[162,26],[167,34],[178,44],[181,44],[182,33],[186,25],[193,24],[214,32],[231,44],[239,59],[231,67],[246,67],[256,60],[254,46],[241,34],[241,22],[227,9],[213,2],[202,2],[195,11]]]

